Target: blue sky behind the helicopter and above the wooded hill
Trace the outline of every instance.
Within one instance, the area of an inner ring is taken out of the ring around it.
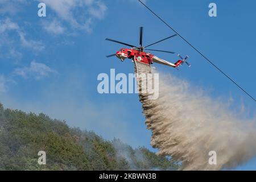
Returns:
[[[39,18],[38,3],[45,2],[47,16]],[[208,16],[210,2],[217,17]],[[154,1],[147,5],[207,55],[252,96],[256,97],[255,1]],[[0,101],[5,107],[46,113],[70,126],[93,130],[106,139],[121,138],[132,146],[150,146],[137,94],[98,94],[97,76],[133,73],[133,64],[121,63],[115,53],[122,46],[113,38],[144,44],[174,34],[136,0],[6,1],[0,0]],[[231,109],[255,115],[255,102],[222,76],[178,37],[155,45],[189,55],[191,68],[180,71],[154,65],[188,80],[210,97],[232,101]],[[176,55],[156,54],[177,60]],[[237,169],[256,169],[251,160]]]

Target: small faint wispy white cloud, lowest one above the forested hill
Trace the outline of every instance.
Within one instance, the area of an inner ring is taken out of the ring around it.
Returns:
[[[57,73],[57,71],[49,68],[43,63],[32,61],[29,67],[16,68],[13,75],[22,76],[23,78],[33,77],[36,80],[40,80],[43,77],[48,77],[51,73]]]

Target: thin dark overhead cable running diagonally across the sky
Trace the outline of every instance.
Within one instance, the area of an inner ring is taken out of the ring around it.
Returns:
[[[154,13],[154,11],[152,11],[147,5],[145,5],[145,3],[143,3],[141,0],[138,0],[140,3],[142,3],[142,5],[144,7],[146,7],[152,14],[154,14],[158,19],[160,19],[164,24],[166,24],[167,27],[171,28],[172,31],[174,31],[181,39],[183,39],[187,44],[189,44],[189,46],[191,46],[193,49],[195,49],[195,51],[197,53],[199,53],[201,56],[204,57],[205,60],[207,60],[210,64],[213,65],[214,68],[216,68],[219,72],[221,72],[225,77],[227,77],[230,81],[233,82],[233,84],[235,84],[239,89],[242,90],[242,92],[244,92],[245,94],[247,94],[247,96],[249,96],[251,99],[253,99],[255,102],[255,98],[253,96],[251,96],[248,92],[246,92],[245,89],[243,89],[239,84],[237,84],[236,81],[234,81],[231,77],[229,77],[228,75],[226,75],[226,73],[224,73],[220,68],[217,67],[217,65],[215,65],[212,61],[210,61],[208,59],[207,56],[205,56],[203,53],[201,53],[199,51],[199,49],[195,48],[194,46],[192,46],[191,43],[188,42],[188,40],[186,40],[185,38],[183,38],[183,36],[181,36],[174,28],[172,28],[168,23],[166,23],[162,18],[160,18],[160,16],[158,16],[157,14]]]

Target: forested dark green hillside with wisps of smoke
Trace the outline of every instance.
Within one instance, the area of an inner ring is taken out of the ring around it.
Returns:
[[[38,164],[46,151],[47,164]],[[179,166],[144,147],[107,141],[45,114],[26,114],[0,104],[0,170],[175,170]]]

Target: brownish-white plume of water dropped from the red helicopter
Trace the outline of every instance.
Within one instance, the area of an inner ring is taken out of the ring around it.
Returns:
[[[136,63],[135,72],[150,73]],[[139,87],[141,89],[141,86]],[[256,154],[255,119],[241,118],[228,104],[205,96],[200,89],[159,73],[159,98],[139,92],[151,145],[159,155],[182,162],[182,170],[220,170],[247,162]],[[216,164],[210,164],[210,151]]]

